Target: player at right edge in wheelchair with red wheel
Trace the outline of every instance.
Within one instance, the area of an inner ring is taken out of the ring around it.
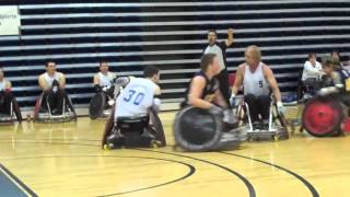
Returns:
[[[322,66],[324,88],[306,103],[303,128],[315,137],[343,136],[350,106],[350,72],[339,68],[332,57],[323,58]]]

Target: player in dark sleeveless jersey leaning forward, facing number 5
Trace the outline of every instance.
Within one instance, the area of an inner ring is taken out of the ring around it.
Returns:
[[[206,54],[201,58],[200,71],[192,78],[187,95],[182,107],[191,105],[194,107],[208,109],[215,115],[222,115],[224,123],[234,125],[236,123],[230,105],[220,92],[220,83],[214,78],[220,72],[219,58],[214,54]]]

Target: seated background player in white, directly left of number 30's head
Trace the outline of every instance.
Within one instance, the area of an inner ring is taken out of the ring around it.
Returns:
[[[100,62],[100,72],[94,76],[94,88],[95,91],[104,92],[110,99],[114,97],[114,85],[113,81],[116,74],[109,71],[109,66],[107,61]]]

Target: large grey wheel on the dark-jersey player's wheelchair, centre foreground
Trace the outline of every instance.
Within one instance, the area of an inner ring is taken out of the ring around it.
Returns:
[[[176,116],[174,137],[186,151],[210,151],[222,137],[222,118],[206,109],[185,107]]]

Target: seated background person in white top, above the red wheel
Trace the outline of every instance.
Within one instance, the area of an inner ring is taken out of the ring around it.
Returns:
[[[322,76],[322,65],[316,60],[316,54],[308,54],[308,60],[304,63],[302,81],[306,79],[319,79]]]

